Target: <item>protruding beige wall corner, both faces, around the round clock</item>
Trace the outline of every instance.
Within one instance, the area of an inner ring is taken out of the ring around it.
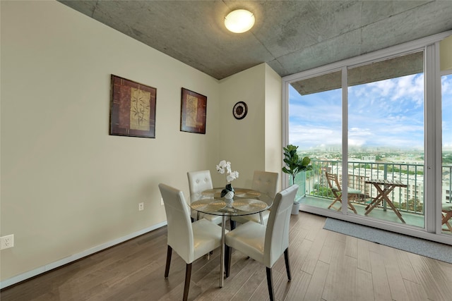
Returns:
[[[266,63],[220,81],[220,159],[240,175],[232,185],[250,187],[256,170],[281,171],[281,85]],[[240,120],[232,115],[237,102],[248,106]]]

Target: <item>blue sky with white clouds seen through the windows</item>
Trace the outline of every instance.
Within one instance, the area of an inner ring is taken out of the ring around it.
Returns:
[[[452,150],[452,75],[441,82],[443,148]],[[340,89],[300,96],[290,86],[291,144],[300,149],[341,144]],[[424,75],[349,87],[349,147],[424,148]]]

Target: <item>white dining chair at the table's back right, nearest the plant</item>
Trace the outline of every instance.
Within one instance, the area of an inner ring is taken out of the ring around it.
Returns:
[[[279,173],[272,173],[270,171],[254,171],[253,182],[251,183],[251,189],[257,190],[259,192],[263,192],[270,199],[276,195],[278,192],[278,178]],[[261,212],[263,224],[266,225],[268,221],[268,216],[270,214],[270,209]],[[231,230],[235,228],[236,222],[238,223],[246,223],[247,221],[254,221],[256,223],[261,223],[261,215],[260,214],[251,214],[244,216],[232,216],[231,217]]]

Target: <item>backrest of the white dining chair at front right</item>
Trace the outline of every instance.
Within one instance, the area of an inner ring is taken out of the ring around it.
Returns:
[[[278,192],[273,200],[263,247],[263,264],[271,268],[289,247],[289,222],[292,204],[297,195],[298,185],[292,185]]]

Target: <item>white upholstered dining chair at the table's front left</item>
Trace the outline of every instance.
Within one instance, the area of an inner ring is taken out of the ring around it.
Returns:
[[[221,246],[222,228],[206,219],[191,223],[184,192],[162,183],[158,187],[165,204],[168,224],[165,278],[168,278],[172,250],[174,250],[186,262],[183,297],[185,301],[189,296],[191,264]]]

